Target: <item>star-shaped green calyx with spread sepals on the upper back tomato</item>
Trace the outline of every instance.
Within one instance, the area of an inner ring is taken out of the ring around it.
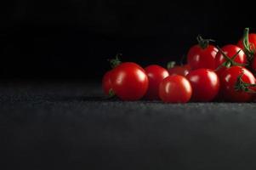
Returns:
[[[222,51],[221,48],[219,48],[219,46],[217,46],[219,53],[222,54],[225,58],[225,62],[222,63],[221,65],[219,65],[219,67],[216,69],[216,71],[218,71],[220,68],[222,67],[226,67],[226,68],[230,68],[230,66],[245,66],[246,64],[240,64],[240,63],[236,63],[236,61],[234,61],[237,57],[237,55],[241,52],[241,50],[237,51],[235,55],[233,55],[231,58],[229,58],[224,51]]]

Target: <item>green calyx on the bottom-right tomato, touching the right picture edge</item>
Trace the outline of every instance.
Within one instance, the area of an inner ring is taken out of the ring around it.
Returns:
[[[243,82],[243,80],[242,80],[243,74],[244,74],[244,72],[242,70],[241,75],[239,75],[239,77],[237,77],[236,84],[235,84],[235,90],[255,94],[256,92],[254,90],[252,90],[251,88],[256,87],[256,84]]]

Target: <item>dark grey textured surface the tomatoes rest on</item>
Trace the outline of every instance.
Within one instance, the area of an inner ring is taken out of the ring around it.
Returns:
[[[0,94],[1,169],[256,168],[255,104],[105,100],[87,82]]]

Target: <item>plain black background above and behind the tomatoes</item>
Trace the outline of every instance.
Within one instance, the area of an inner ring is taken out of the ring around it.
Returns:
[[[98,79],[107,59],[179,60],[197,34],[236,43],[253,5],[225,1],[65,0],[1,4],[2,77]],[[250,7],[252,6],[252,7]]]

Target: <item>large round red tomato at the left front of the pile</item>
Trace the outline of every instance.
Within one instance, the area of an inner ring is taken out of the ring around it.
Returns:
[[[111,72],[114,93],[122,100],[141,99],[148,88],[145,70],[132,62],[117,65]]]

